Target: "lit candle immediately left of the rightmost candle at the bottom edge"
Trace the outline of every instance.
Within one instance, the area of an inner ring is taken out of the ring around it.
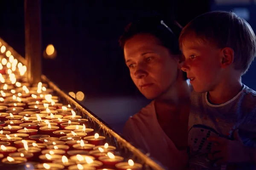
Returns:
[[[115,165],[119,162],[122,162],[124,158],[122,156],[115,156],[113,153],[108,152],[108,156],[100,156],[99,161],[102,161],[106,167],[115,168]]]

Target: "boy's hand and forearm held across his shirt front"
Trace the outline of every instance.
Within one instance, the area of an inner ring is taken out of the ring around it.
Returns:
[[[214,142],[208,158],[214,160],[216,164],[254,161],[255,150],[244,146],[238,130],[234,132],[234,140],[221,137],[209,137],[207,140]]]

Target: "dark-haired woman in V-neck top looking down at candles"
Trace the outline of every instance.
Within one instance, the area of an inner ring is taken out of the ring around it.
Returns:
[[[160,17],[131,23],[119,42],[131,79],[152,102],[130,117],[123,134],[168,169],[187,163],[190,86],[180,70],[181,27]]]

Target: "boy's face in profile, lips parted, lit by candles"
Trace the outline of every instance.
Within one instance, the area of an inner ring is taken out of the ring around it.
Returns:
[[[185,60],[181,69],[191,79],[194,90],[214,90],[221,79],[221,49],[190,39],[183,42],[182,51]]]

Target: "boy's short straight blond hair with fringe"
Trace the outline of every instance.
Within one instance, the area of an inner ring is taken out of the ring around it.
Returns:
[[[212,11],[188,23],[180,33],[179,45],[193,37],[218,48],[230,47],[234,51],[233,66],[244,74],[256,55],[256,37],[251,26],[233,11]]]

